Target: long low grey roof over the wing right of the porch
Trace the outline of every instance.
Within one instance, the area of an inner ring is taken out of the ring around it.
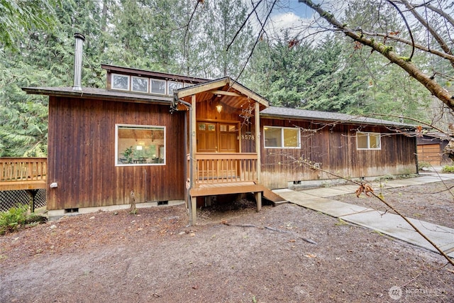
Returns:
[[[329,111],[309,111],[306,109],[287,109],[285,107],[268,107],[260,111],[260,116],[263,118],[278,118],[278,119],[305,119],[316,121],[331,121],[341,123],[353,124],[367,124],[377,126],[394,126],[394,127],[409,127],[415,128],[416,126],[408,123],[400,123],[395,121],[388,121],[383,119],[369,118],[366,116],[352,116],[348,114],[333,113]]]

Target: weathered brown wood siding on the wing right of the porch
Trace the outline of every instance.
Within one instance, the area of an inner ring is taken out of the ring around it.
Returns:
[[[356,132],[392,133],[380,126],[358,127],[348,124],[261,119],[263,126],[301,127],[301,148],[262,150],[262,184],[269,188],[287,187],[288,182],[327,180],[331,174],[312,170],[304,161],[317,163],[322,170],[345,177],[374,177],[416,173],[416,139],[392,134],[382,136],[381,150],[358,150]],[[304,129],[306,131],[304,131]]]

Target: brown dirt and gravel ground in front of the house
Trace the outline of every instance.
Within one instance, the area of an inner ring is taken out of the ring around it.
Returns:
[[[382,193],[453,227],[443,186]],[[1,236],[0,302],[454,302],[454,268],[440,255],[294,204],[257,213],[243,200],[187,224],[184,206],[160,206]]]

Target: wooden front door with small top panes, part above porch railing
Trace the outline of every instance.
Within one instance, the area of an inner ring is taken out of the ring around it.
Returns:
[[[198,153],[238,153],[238,122],[197,121]]]

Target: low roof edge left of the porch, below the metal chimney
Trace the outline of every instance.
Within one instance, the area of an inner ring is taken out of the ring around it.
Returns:
[[[162,96],[156,94],[135,94],[133,92],[109,91],[107,89],[96,89],[92,87],[82,87],[82,91],[73,90],[72,87],[23,87],[27,94],[43,94],[47,96],[71,97],[71,98],[90,98],[113,101],[131,101],[155,104],[172,104],[172,96]]]

